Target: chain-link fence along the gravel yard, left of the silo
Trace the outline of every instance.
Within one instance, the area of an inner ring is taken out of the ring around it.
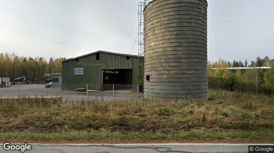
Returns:
[[[0,90],[1,97],[62,97],[66,102],[134,101],[143,97],[143,85],[63,84],[62,88],[45,85],[14,85]]]

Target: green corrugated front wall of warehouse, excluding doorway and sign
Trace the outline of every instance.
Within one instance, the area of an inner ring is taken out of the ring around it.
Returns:
[[[130,69],[132,68],[133,84],[138,83],[138,57],[100,53],[100,61],[96,60],[96,54],[69,60],[62,63],[63,85],[68,84],[102,84],[102,69]],[[74,68],[84,68],[83,75],[75,75]]]

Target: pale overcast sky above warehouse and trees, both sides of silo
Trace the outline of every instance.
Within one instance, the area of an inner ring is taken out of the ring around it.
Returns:
[[[273,0],[208,0],[208,60],[274,58],[273,6]],[[129,54],[137,13],[138,0],[0,0],[0,52],[46,59],[96,50]]]

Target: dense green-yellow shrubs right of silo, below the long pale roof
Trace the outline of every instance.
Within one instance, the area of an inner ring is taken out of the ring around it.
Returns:
[[[209,69],[208,87],[211,89],[274,94],[274,84],[269,80],[272,75],[268,70],[262,69],[236,71]]]

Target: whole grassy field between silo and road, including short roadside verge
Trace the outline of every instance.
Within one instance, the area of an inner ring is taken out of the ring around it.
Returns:
[[[0,140],[246,140],[273,142],[274,98],[210,90],[209,100],[0,100]]]

